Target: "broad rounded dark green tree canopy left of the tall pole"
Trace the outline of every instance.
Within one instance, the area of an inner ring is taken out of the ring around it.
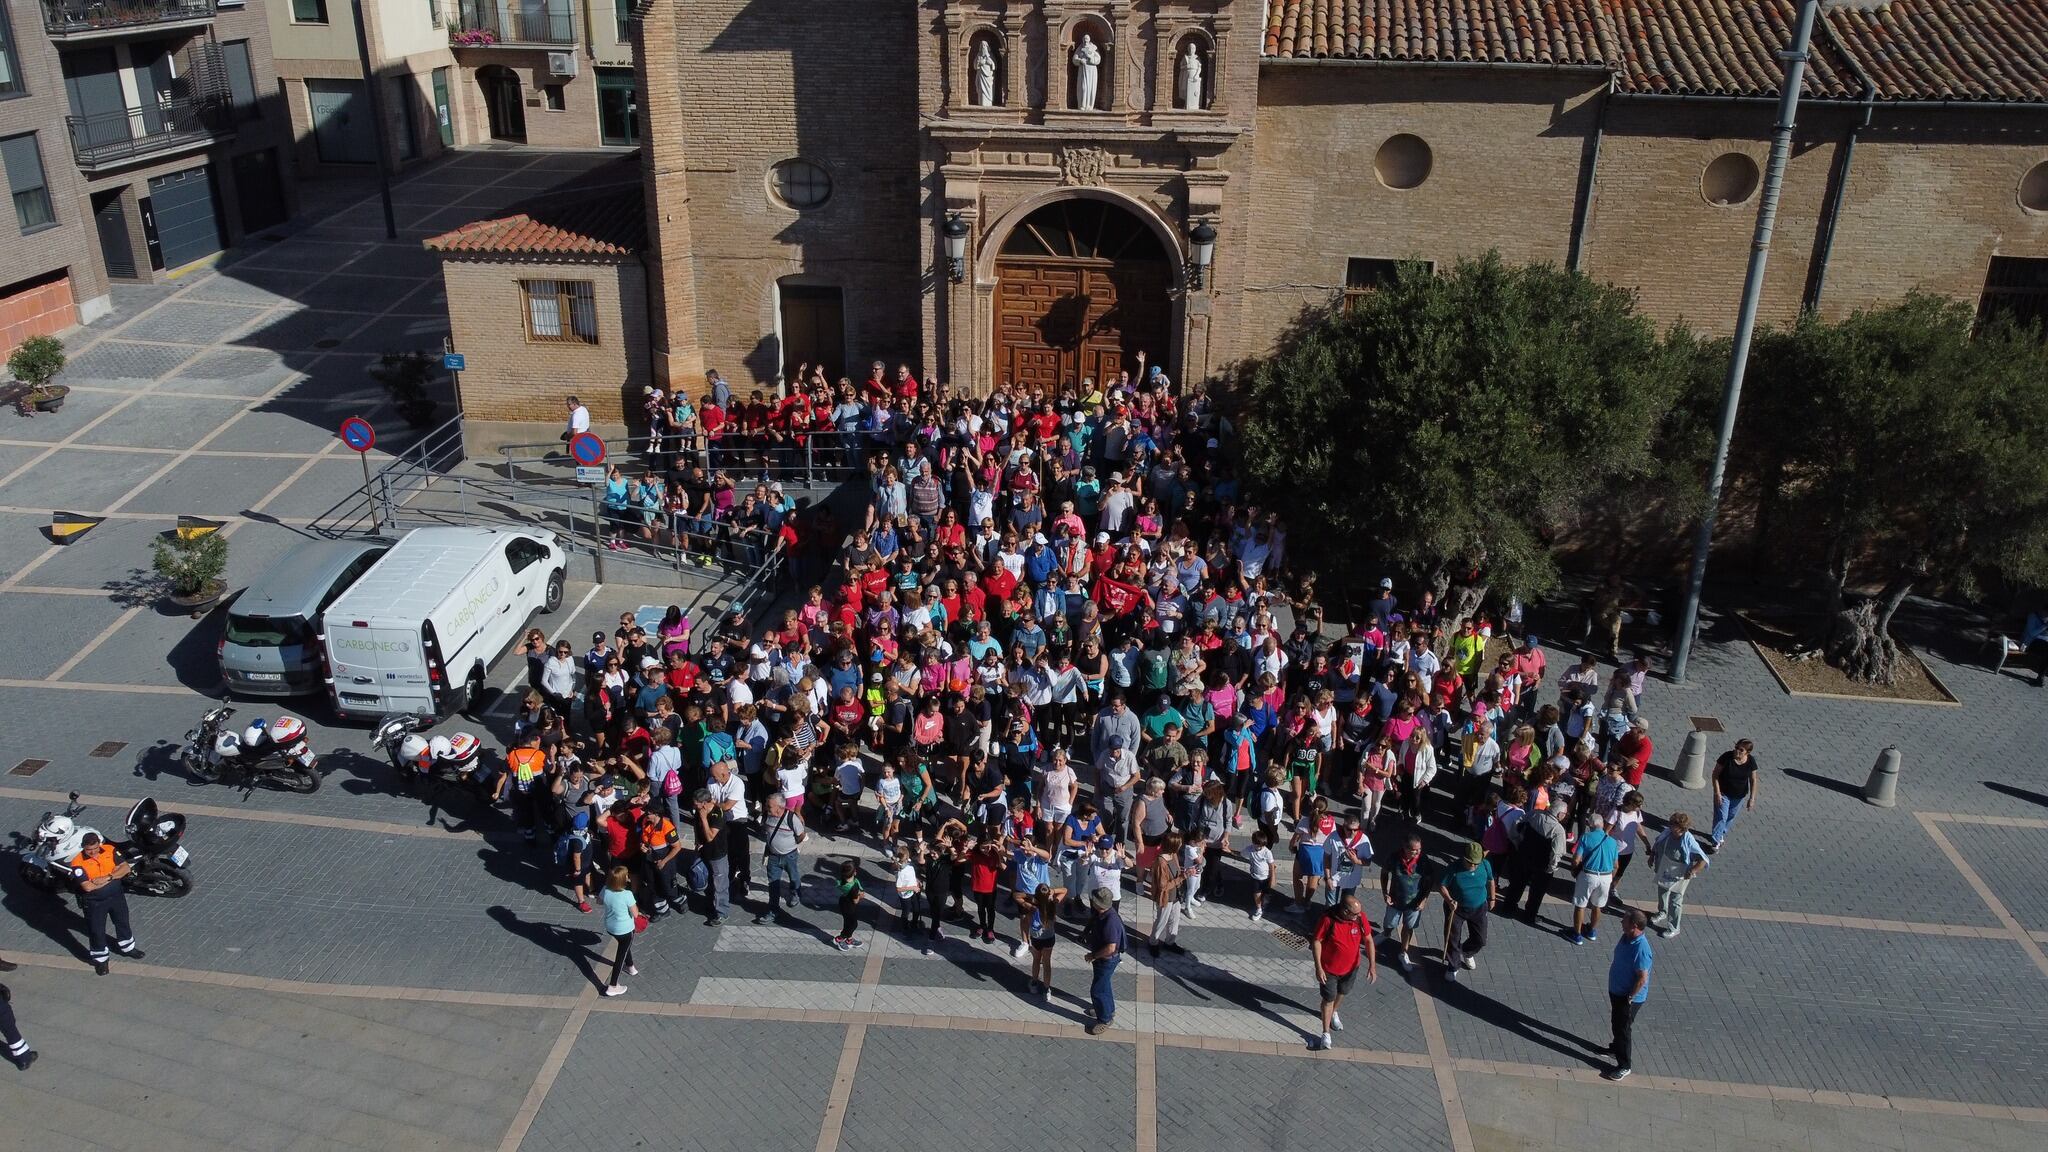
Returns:
[[[1556,527],[1632,486],[1698,488],[1708,361],[1577,273],[1405,264],[1247,367],[1245,478],[1313,564],[1536,596]]]

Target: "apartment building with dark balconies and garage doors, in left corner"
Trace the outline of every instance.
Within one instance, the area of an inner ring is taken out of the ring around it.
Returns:
[[[0,0],[0,355],[283,223],[274,90],[246,0]]]

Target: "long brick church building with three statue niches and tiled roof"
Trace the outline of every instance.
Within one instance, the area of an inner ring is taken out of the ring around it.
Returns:
[[[858,377],[870,359],[985,392],[1141,351],[1204,379],[1399,260],[1487,250],[1724,332],[1794,16],[1794,0],[645,0],[647,322],[627,328],[647,332],[647,381],[618,396],[696,389],[707,369],[764,389],[799,365]],[[2042,312],[2042,43],[2048,0],[1825,12],[1767,322],[1915,289]]]

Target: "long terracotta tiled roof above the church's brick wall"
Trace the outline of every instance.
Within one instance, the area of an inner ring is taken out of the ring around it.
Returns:
[[[1266,55],[1591,66],[1622,92],[1769,96],[1798,0],[1270,0]],[[2048,0],[1823,10],[1806,96],[2048,100]]]

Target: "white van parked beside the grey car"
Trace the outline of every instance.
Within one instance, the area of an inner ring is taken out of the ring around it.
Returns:
[[[322,615],[334,711],[467,707],[526,617],[561,607],[565,564],[549,533],[414,529]]]

